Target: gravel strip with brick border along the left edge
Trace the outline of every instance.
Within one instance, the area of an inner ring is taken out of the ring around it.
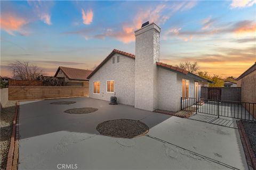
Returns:
[[[1,169],[6,168],[15,105],[16,101],[8,101],[6,106],[1,110]]]

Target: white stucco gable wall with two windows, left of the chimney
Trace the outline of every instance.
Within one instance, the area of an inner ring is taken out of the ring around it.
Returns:
[[[116,63],[116,57],[120,56],[120,62]],[[115,57],[115,64],[112,58]],[[90,78],[89,97],[108,100],[113,93],[107,92],[107,80],[115,80],[115,96],[117,102],[134,106],[134,66],[135,60],[120,54],[114,54],[100,69]],[[93,81],[100,81],[100,94],[93,94]]]

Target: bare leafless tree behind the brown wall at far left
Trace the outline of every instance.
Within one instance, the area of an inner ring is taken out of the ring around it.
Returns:
[[[42,69],[29,62],[16,61],[10,64],[10,68],[14,70],[14,79],[36,80],[39,75],[44,74]]]

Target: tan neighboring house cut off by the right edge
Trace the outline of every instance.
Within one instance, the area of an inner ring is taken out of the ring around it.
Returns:
[[[237,87],[241,87],[241,101],[256,103],[256,62],[236,80]]]

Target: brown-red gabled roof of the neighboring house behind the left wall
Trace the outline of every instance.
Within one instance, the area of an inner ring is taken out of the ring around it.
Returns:
[[[88,80],[87,77],[92,73],[91,70],[75,69],[70,67],[59,66],[54,77],[57,76],[59,71],[62,71],[69,80]]]

